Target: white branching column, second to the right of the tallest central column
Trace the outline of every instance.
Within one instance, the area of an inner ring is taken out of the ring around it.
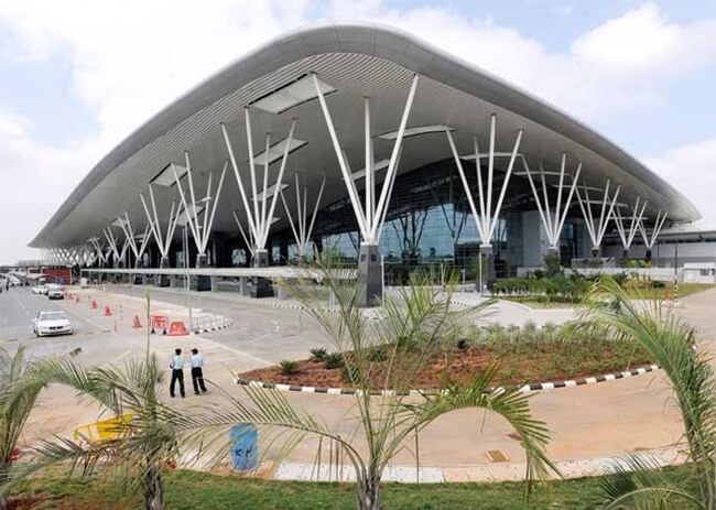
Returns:
[[[542,193],[538,192],[538,187],[534,184],[534,178],[532,177],[532,172],[530,171],[527,161],[524,163],[524,173],[530,182],[530,187],[534,195],[534,202],[538,206],[538,211],[540,213],[540,219],[542,220],[542,226],[547,236],[547,241],[550,242],[550,250],[560,253],[560,236],[562,235],[562,229],[564,228],[564,223],[567,218],[567,213],[572,206],[572,197],[577,187],[579,181],[579,174],[582,173],[582,163],[577,165],[577,170],[574,175],[566,173],[567,155],[562,154],[562,164],[560,165],[560,172],[545,172],[544,166],[540,163],[540,183],[542,187]],[[560,183],[557,185],[557,196],[554,204],[550,203],[550,186],[546,183],[545,175],[558,175]],[[571,178],[572,183],[566,184],[564,178]],[[568,187],[569,191],[566,196],[566,200],[563,200],[562,191]]]

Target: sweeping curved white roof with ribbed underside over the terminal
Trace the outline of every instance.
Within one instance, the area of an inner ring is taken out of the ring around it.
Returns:
[[[571,163],[583,163],[582,175],[590,186],[603,187],[610,178],[621,185],[619,202],[633,202],[638,195],[647,198],[648,216],[655,217],[660,208],[676,221],[701,216],[688,199],[634,158],[523,90],[395,29],[329,24],[299,30],[260,47],[158,113],[89,172],[30,246],[83,243],[124,211],[144,223],[138,192],[145,191],[169,163],[181,163],[185,150],[203,178],[220,171],[228,156],[220,122],[228,127],[240,164],[248,161],[242,107],[306,73],[316,73],[335,89],[327,101],[354,170],[364,167],[362,97],[368,95],[373,101],[372,132],[393,131],[410,80],[419,74],[409,126],[449,126],[460,153],[471,151],[474,133],[486,139],[489,115],[497,113],[496,150],[510,150],[517,130],[524,129],[520,152],[535,166],[543,161],[545,166],[556,167],[561,153],[566,152]],[[345,196],[316,101],[281,113],[253,108],[254,151],[261,152],[265,132],[270,131],[274,141],[285,138],[292,118],[297,119],[294,138],[307,144],[290,156],[284,182],[292,183],[293,173],[300,172],[303,182],[318,186],[326,175],[329,184],[324,203]],[[400,172],[451,156],[444,134],[424,134],[419,140],[404,142]],[[387,158],[391,148],[390,140],[377,141],[376,161]],[[248,185],[248,177],[243,177]],[[241,206],[234,176],[227,180],[215,230],[234,232],[231,210]],[[174,188],[159,191],[159,202],[176,199],[175,193]]]

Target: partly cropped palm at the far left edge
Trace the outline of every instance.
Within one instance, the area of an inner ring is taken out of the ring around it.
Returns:
[[[25,357],[23,346],[14,355],[0,347],[0,488],[12,467],[20,434],[45,382]],[[22,387],[23,391],[17,391]],[[8,510],[8,493],[0,490],[0,510]]]

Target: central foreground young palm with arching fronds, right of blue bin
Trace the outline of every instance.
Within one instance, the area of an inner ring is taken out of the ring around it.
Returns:
[[[360,510],[382,508],[381,479],[388,464],[425,426],[459,409],[484,409],[501,415],[514,428],[527,455],[528,488],[550,470],[556,473],[545,454],[547,430],[544,423],[531,417],[528,397],[516,388],[486,391],[493,379],[493,369],[477,375],[467,387],[446,380],[443,391],[411,395],[421,370],[435,355],[455,345],[466,317],[482,312],[489,303],[456,312],[451,306],[456,281],[443,290],[425,284],[430,279],[413,276],[411,285],[400,291],[398,297],[383,300],[377,319],[368,318],[359,307],[354,282],[334,280],[330,269],[322,270],[324,285],[335,296],[334,308],[326,308],[315,287],[296,284],[292,292],[343,357],[344,377],[356,388],[355,430],[341,433],[296,409],[280,391],[251,386],[243,387],[248,402],[227,394],[229,409],[214,408],[200,416],[180,416],[178,427],[200,426],[223,434],[228,423],[248,422],[257,425],[270,443],[283,431],[290,431],[282,453],[304,436],[317,436],[318,465],[323,462],[322,453],[329,452],[329,468],[339,464],[336,458],[345,458],[352,466]],[[386,391],[377,394],[378,390]],[[215,440],[216,436],[207,442]]]

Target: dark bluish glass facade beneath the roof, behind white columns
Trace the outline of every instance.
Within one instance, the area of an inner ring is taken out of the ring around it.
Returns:
[[[477,189],[475,165],[465,162],[464,169],[470,188]],[[482,172],[486,181],[485,167]],[[503,173],[496,172],[493,204],[502,178]],[[522,211],[527,209],[534,209],[529,183],[513,176],[492,239],[498,278],[514,275],[523,263]],[[577,227],[567,219],[561,250],[565,263],[578,252],[581,236]],[[357,263],[360,234],[347,197],[318,211],[313,243],[321,250],[330,249],[339,253],[348,265]],[[404,279],[408,272],[419,267],[455,268],[464,270],[467,279],[475,278],[479,246],[479,234],[453,160],[432,163],[395,178],[380,232],[387,283]],[[290,263],[297,258],[290,228],[272,236],[271,253],[273,263]]]

